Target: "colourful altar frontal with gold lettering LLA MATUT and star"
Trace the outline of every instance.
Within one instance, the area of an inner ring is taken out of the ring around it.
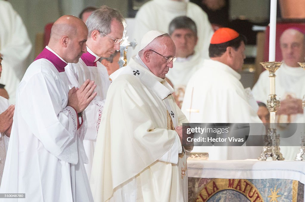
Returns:
[[[188,178],[189,202],[303,202],[304,184],[291,179]]]

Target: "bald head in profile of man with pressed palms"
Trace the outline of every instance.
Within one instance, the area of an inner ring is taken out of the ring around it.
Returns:
[[[81,19],[65,15],[53,24],[48,46],[66,62],[77,63],[86,52],[87,36],[87,26]]]

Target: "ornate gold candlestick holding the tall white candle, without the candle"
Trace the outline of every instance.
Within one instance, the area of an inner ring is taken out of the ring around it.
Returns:
[[[275,95],[275,71],[280,67],[282,62],[261,62],[265,69],[269,71],[270,78],[270,95],[267,100],[267,108],[270,112],[270,128],[268,134],[264,135],[264,147],[258,160],[265,161],[268,157],[272,160],[284,160],[280,152],[280,136],[275,129],[275,113],[277,107],[280,107],[280,102],[276,99]]]

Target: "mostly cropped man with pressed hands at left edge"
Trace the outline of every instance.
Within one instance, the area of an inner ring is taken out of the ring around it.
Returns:
[[[2,72],[2,56],[0,53],[0,78]],[[12,130],[13,115],[15,106],[9,105],[9,101],[0,96],[0,183],[5,163],[7,147],[9,144],[9,136]]]

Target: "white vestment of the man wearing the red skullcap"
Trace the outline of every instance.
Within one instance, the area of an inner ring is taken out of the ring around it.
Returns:
[[[219,61],[205,60],[190,78],[182,112],[190,123],[262,123],[249,105],[240,74]],[[195,146],[193,152],[209,152],[210,160],[257,158],[261,147]]]

